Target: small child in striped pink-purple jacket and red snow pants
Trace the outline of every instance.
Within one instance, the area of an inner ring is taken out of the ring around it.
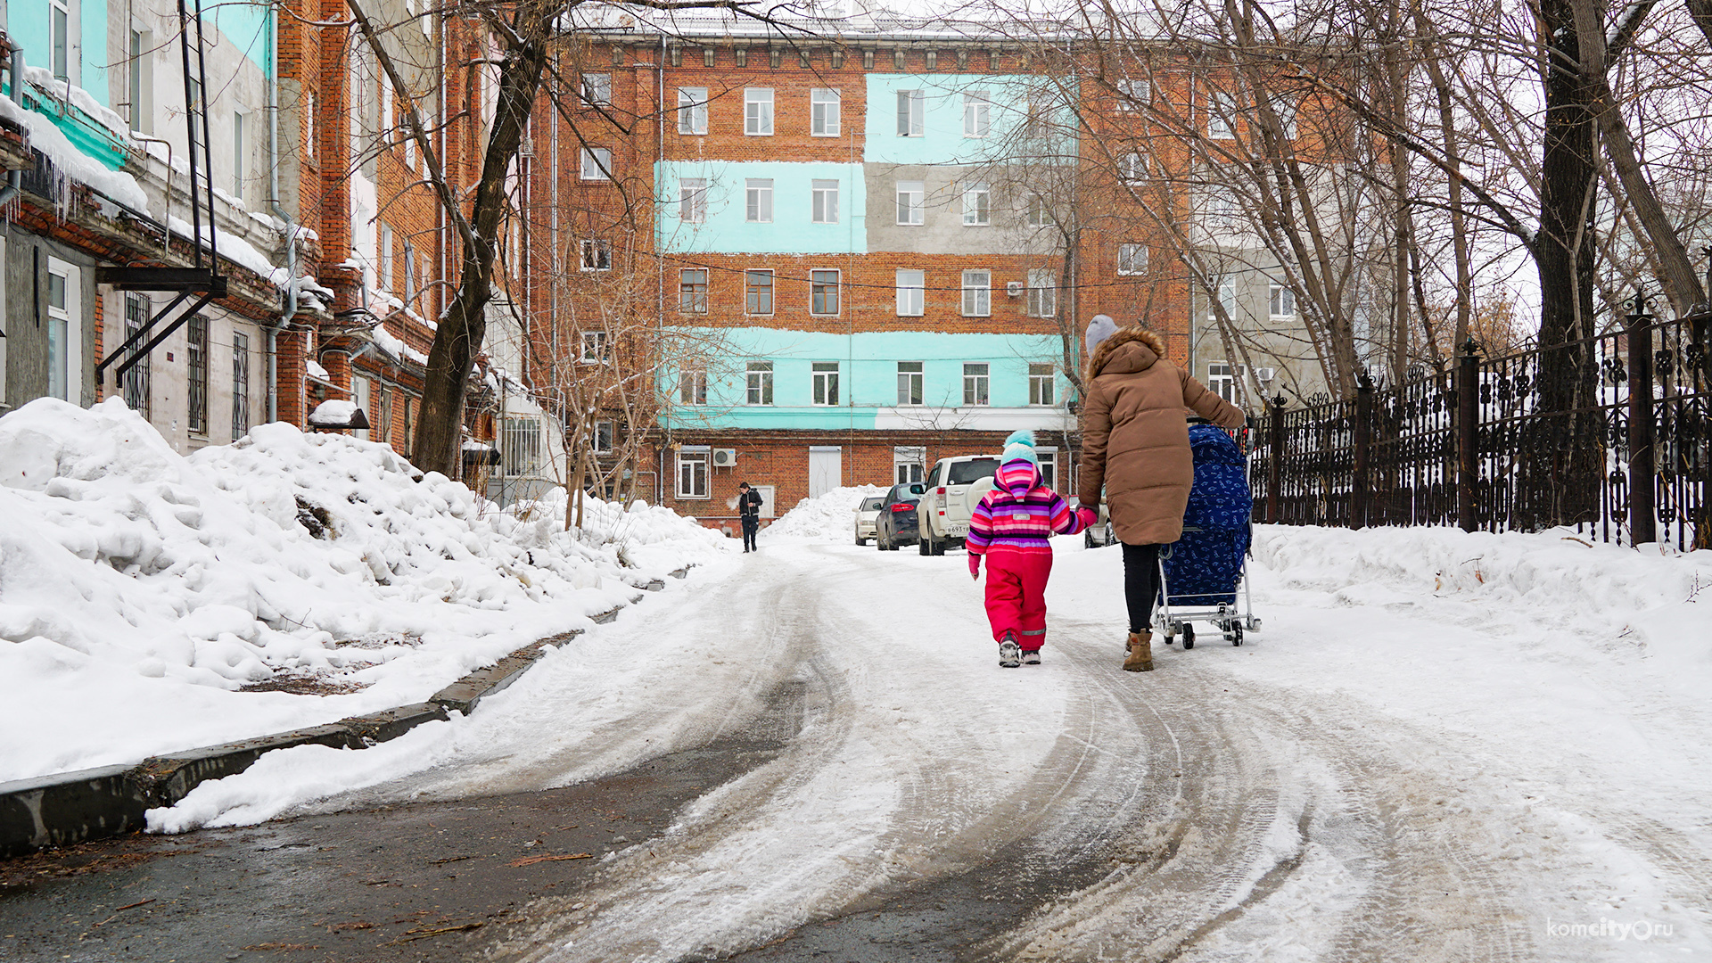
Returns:
[[[1041,663],[1046,641],[1046,579],[1053,572],[1053,533],[1075,535],[1094,524],[1091,509],[1072,509],[1041,482],[1034,434],[1005,439],[1005,454],[993,475],[995,488],[981,495],[969,519],[969,576],[981,577],[986,555],[986,620],[998,643],[998,665]]]

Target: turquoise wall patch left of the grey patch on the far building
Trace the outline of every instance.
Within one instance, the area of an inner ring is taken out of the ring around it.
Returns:
[[[661,250],[709,254],[865,254],[866,204],[861,164],[774,161],[661,161],[654,183],[661,199]],[[678,219],[678,183],[707,180],[707,219]],[[750,223],[745,190],[750,178],[772,180],[772,223]],[[815,180],[839,182],[839,221],[813,223]]]

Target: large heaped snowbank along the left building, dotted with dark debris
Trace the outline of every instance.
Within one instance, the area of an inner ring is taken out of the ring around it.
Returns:
[[[592,514],[604,541],[382,444],[272,423],[181,458],[118,399],[34,401],[0,418],[0,781],[421,701],[722,552]]]

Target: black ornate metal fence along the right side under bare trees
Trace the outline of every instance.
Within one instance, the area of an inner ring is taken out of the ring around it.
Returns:
[[[1255,432],[1255,521],[1573,526],[1712,547],[1712,315],[1483,360],[1286,411]],[[1650,392],[1635,391],[1650,386]]]

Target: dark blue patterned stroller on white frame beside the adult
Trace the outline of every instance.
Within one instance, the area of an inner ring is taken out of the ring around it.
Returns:
[[[1253,495],[1248,458],[1216,425],[1192,422],[1195,487],[1183,512],[1183,536],[1159,550],[1159,607],[1154,627],[1166,644],[1181,634],[1195,648],[1195,622],[1210,622],[1233,646],[1260,631],[1248,591]]]

